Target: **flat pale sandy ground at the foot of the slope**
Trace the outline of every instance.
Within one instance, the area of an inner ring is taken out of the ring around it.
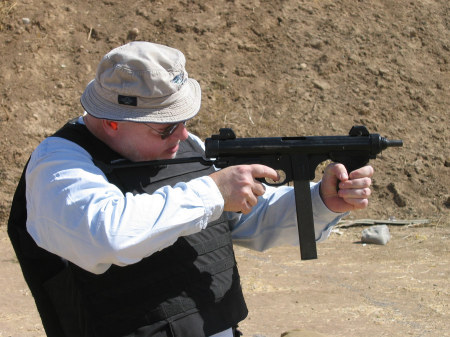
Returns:
[[[448,227],[390,226],[385,246],[362,244],[362,229],[338,228],[311,261],[297,247],[236,247],[250,311],[244,336],[299,328],[329,337],[450,336]],[[45,336],[4,230],[0,243],[0,336]]]

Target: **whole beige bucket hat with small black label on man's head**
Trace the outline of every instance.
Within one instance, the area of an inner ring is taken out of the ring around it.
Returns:
[[[111,50],[81,96],[86,112],[101,119],[177,123],[200,110],[201,89],[188,77],[177,49],[133,41]]]

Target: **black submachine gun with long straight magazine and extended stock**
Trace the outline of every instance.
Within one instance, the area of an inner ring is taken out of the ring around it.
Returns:
[[[232,129],[222,128],[219,134],[205,140],[205,158],[175,158],[135,163],[114,163],[109,169],[126,166],[164,166],[201,162],[225,168],[242,164],[262,164],[282,171],[284,179],[269,185],[294,183],[297,225],[302,260],[317,258],[310,181],[317,166],[326,160],[345,165],[348,172],[365,166],[370,159],[388,147],[401,147],[401,140],[388,140],[370,134],[365,126],[353,126],[348,136],[300,136],[237,138]]]

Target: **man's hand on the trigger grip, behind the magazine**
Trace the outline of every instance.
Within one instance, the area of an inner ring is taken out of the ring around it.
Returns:
[[[259,164],[230,166],[210,177],[222,193],[224,210],[244,214],[251,212],[258,203],[258,197],[265,192],[264,185],[255,178],[279,179],[275,170]]]

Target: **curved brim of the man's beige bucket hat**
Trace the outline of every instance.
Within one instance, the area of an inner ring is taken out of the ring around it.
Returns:
[[[189,78],[180,89],[175,100],[161,104],[161,100],[152,106],[129,106],[111,102],[97,93],[96,80],[87,85],[81,95],[81,105],[94,117],[116,121],[141,123],[177,123],[193,118],[200,110],[201,88],[199,83]],[[182,92],[184,91],[184,92]]]

